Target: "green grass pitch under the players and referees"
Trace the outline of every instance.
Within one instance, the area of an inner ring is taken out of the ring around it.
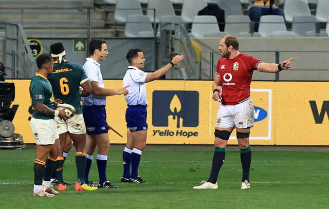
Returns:
[[[329,208],[325,151],[255,149],[251,188],[242,190],[240,153],[233,146],[227,151],[218,189],[196,190],[192,187],[209,176],[213,148],[168,147],[147,147],[143,152],[139,173],[148,184],[119,183],[122,145],[110,151],[107,164],[107,178],[118,189],[76,192],[69,186],[54,198],[32,197],[35,149],[0,150],[0,208]],[[69,153],[64,167],[69,182],[76,180],[74,154]],[[98,181],[95,161],[90,180]]]

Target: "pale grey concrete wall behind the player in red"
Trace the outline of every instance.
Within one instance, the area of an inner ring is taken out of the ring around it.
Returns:
[[[214,70],[218,59],[219,37],[194,39],[202,48],[201,66],[203,79],[210,74],[209,51],[214,52]],[[240,37],[239,50],[264,62],[279,61],[294,57],[293,67],[279,73],[280,80],[329,80],[329,37]],[[275,73],[254,72],[253,80],[275,80]]]

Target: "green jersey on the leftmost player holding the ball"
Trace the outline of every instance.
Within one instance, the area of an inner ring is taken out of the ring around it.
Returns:
[[[42,102],[44,105],[53,109],[52,88],[43,75],[36,73],[30,83],[30,97],[32,101],[32,117],[36,119],[53,119],[53,116],[45,115],[35,110],[34,102]]]

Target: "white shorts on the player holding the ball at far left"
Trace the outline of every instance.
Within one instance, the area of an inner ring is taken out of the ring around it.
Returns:
[[[47,145],[55,143],[59,138],[57,132],[57,125],[53,119],[35,119],[31,118],[30,121],[35,144]]]

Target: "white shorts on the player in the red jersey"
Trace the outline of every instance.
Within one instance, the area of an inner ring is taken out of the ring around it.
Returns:
[[[216,128],[253,127],[253,101],[251,98],[236,104],[221,104],[217,112]]]

